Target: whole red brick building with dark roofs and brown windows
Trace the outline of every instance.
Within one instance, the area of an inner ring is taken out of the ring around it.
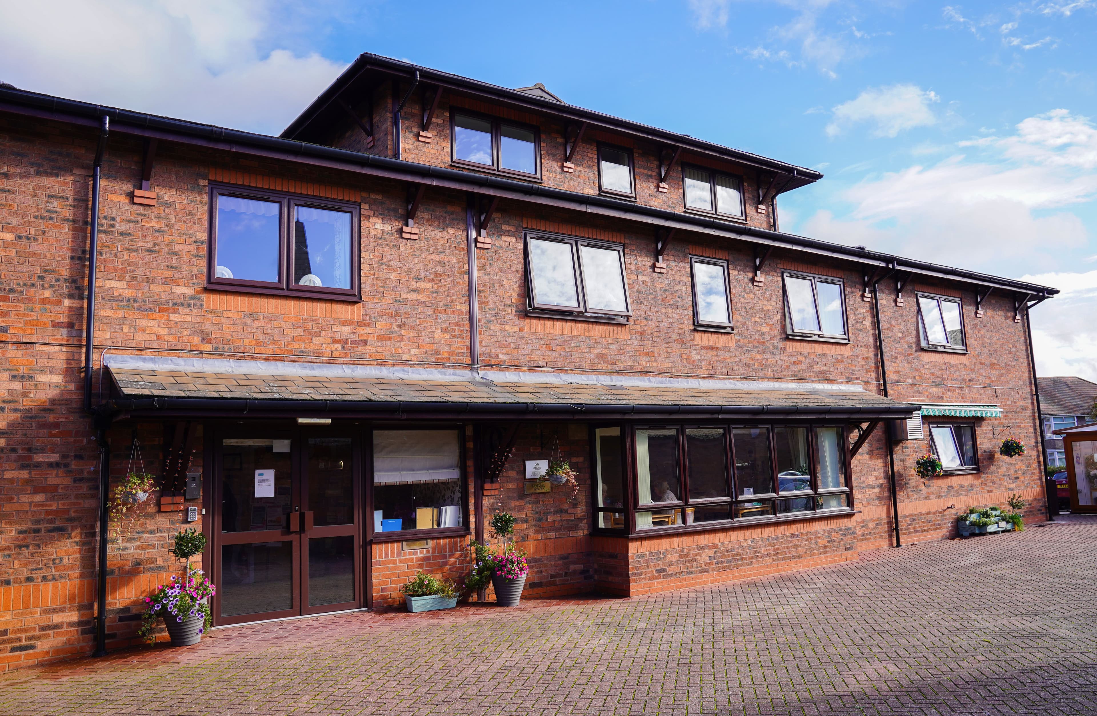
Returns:
[[[1044,513],[996,444],[1055,289],[782,232],[818,172],[373,55],[281,137],[0,88],[0,152],[5,667],[132,643],[185,525],[227,625],[460,577],[497,510],[528,596]]]

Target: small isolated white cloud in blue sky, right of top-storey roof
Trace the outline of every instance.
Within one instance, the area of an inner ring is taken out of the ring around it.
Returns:
[[[930,110],[936,102],[940,102],[936,93],[914,84],[871,88],[834,107],[834,120],[826,126],[826,133],[834,137],[852,125],[868,122],[875,125],[874,136],[894,137],[905,129],[936,124],[937,116]]]

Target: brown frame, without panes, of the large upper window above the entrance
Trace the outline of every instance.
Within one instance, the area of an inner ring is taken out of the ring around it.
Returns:
[[[217,201],[220,196],[249,198],[279,204],[279,281],[249,281],[217,276]],[[361,206],[351,202],[321,198],[307,194],[275,192],[235,184],[210,182],[206,241],[206,282],[211,291],[272,294],[275,296],[307,296],[330,300],[362,300]],[[296,206],[346,212],[350,219],[350,288],[329,286],[302,286],[293,283],[293,209]]]

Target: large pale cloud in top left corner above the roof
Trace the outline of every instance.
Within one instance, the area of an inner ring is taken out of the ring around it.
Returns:
[[[276,134],[344,67],[280,46],[287,24],[259,0],[0,3],[0,79]]]

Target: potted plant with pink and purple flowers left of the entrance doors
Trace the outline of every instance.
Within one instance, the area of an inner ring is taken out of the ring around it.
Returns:
[[[180,579],[172,575],[168,584],[160,584],[152,596],[145,598],[145,613],[142,614],[137,635],[149,644],[156,640],[156,622],[161,617],[171,637],[171,646],[176,647],[197,644],[213,624],[210,598],[216,589],[201,569],[191,570],[191,557],[201,554],[205,542],[205,535],[194,527],[176,534],[170,552],[183,560],[183,577]]]

